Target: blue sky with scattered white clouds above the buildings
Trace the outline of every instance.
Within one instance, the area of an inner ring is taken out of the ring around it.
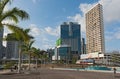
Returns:
[[[13,0],[5,10],[18,7],[27,11],[30,19],[21,21],[19,26],[30,28],[35,37],[33,46],[46,50],[55,46],[63,22],[81,24],[85,38],[85,13],[98,3],[103,5],[106,52],[120,51],[120,0]],[[4,35],[9,32],[5,30]]]

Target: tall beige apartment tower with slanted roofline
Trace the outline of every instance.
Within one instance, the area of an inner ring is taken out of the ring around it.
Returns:
[[[87,53],[104,53],[104,25],[102,5],[97,4],[86,14]]]

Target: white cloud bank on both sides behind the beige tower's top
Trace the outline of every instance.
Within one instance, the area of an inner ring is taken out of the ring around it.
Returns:
[[[99,0],[97,3],[103,5],[103,15],[105,23],[112,23],[114,21],[120,22],[120,0]],[[69,16],[72,21],[76,21],[81,24],[82,32],[85,32],[85,13],[94,7],[97,3],[93,4],[80,4],[79,8],[82,14],[75,14],[75,16]]]

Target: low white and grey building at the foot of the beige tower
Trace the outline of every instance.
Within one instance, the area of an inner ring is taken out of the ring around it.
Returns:
[[[120,53],[89,53],[82,54],[80,60],[94,59],[96,64],[120,66]]]

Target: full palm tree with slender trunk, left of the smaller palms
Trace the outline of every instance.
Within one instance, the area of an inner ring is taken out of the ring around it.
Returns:
[[[33,37],[28,34],[30,29],[25,29],[25,30],[20,29],[20,30],[23,32],[23,34],[27,38],[29,38],[28,41],[25,41],[23,35],[21,33],[17,33],[17,32],[16,33],[12,33],[9,37],[5,38],[5,40],[7,40],[7,41],[18,41],[19,42],[19,63],[18,63],[18,72],[19,73],[21,71],[21,55],[22,55],[22,51],[24,51],[24,45],[27,44],[30,41],[30,39],[33,39]]]

